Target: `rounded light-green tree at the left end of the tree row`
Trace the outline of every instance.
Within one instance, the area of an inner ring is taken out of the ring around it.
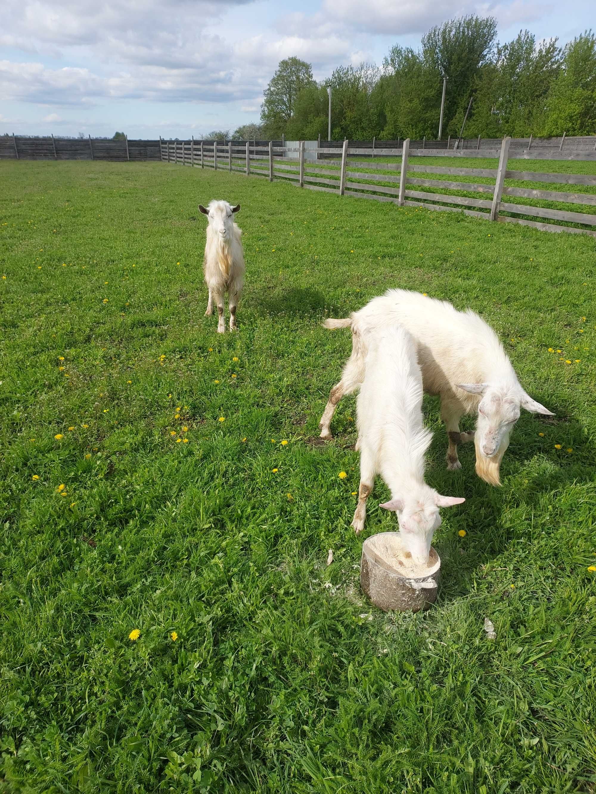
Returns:
[[[300,58],[281,60],[269,85],[261,107],[261,121],[268,136],[281,137],[292,118],[296,97],[303,88],[315,85],[311,64]]]

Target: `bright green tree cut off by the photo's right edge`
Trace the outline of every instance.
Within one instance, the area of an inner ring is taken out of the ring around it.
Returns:
[[[563,50],[563,69],[552,84],[541,134],[596,132],[596,36],[586,30]]]

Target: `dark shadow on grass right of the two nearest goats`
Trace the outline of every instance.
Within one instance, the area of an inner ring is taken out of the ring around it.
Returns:
[[[545,495],[571,483],[594,481],[596,464],[586,464],[586,461],[596,461],[596,448],[586,436],[585,426],[571,416],[571,406],[558,403],[549,407],[557,416],[539,417],[522,412],[513,430],[509,449],[501,462],[501,482],[512,477],[523,478],[514,500],[510,488],[505,491],[493,488],[476,475],[473,443],[459,447],[462,469],[447,472],[443,468],[447,438],[444,434],[435,434],[431,450],[434,465],[427,468],[428,484],[439,493],[454,495],[457,490],[466,497],[466,503],[458,508],[457,514],[453,518],[450,516],[449,538],[439,530],[433,543],[442,563],[439,592],[442,603],[473,592],[474,577],[482,567],[500,557],[520,538],[519,524],[510,526],[510,519],[504,520],[504,513],[513,508],[522,515],[533,515],[536,510],[544,510]],[[540,437],[539,432],[543,432],[544,437]],[[555,449],[555,443],[560,443],[563,449]],[[567,453],[567,447],[571,447],[573,453]],[[531,465],[537,456],[542,457],[544,463]],[[454,540],[459,530],[466,531],[462,542]]]

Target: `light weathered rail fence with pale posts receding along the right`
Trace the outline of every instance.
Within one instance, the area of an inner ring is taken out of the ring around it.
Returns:
[[[596,225],[596,214],[581,211],[582,207],[596,207],[596,192],[582,192],[582,187],[596,187],[596,176],[582,174],[562,174],[533,171],[517,171],[508,168],[509,160],[524,160],[528,153],[510,151],[510,138],[504,138],[501,146],[495,150],[447,151],[445,149],[410,148],[406,139],[400,149],[379,148],[376,156],[399,156],[401,162],[374,162],[365,160],[358,162],[354,156],[362,154],[361,148],[350,148],[349,141],[344,141],[341,159],[326,160],[324,168],[319,164],[308,163],[304,158],[304,141],[299,147],[282,145],[253,146],[250,143],[238,144],[229,141],[227,144],[205,141],[161,141],[161,159],[169,163],[178,163],[201,168],[219,168],[227,171],[244,172],[246,175],[263,176],[273,179],[292,181],[298,187],[310,190],[326,191],[338,195],[353,195],[359,198],[373,198],[377,201],[393,202],[397,206],[416,206],[428,210],[447,210],[464,212],[475,218],[485,218],[501,223],[519,223],[533,226],[548,232],[586,233],[596,237],[596,231],[590,226]],[[297,160],[289,160],[288,152],[298,153]],[[319,147],[317,153],[329,155],[339,153],[337,148]],[[593,160],[594,152],[573,152],[561,157],[557,152],[556,159]],[[412,157],[449,156],[498,158],[497,168],[456,168],[449,166],[427,166],[410,162]],[[348,158],[350,157],[350,160]],[[554,159],[552,152],[534,150],[532,159]],[[336,168],[329,168],[335,166]],[[366,170],[358,170],[366,169]],[[437,178],[439,176],[439,178]],[[459,176],[464,181],[451,177]],[[443,179],[447,177],[447,179]],[[490,183],[466,181],[478,177],[490,179]],[[534,187],[514,187],[508,181],[524,183],[550,183],[581,186],[579,191],[566,192],[561,190],[535,189]],[[424,188],[419,190],[417,188]],[[458,191],[473,195],[454,195],[441,191]],[[475,198],[474,194],[482,195]],[[506,201],[513,198],[513,201]],[[518,200],[516,200],[518,199]],[[522,199],[520,201],[519,199]],[[552,209],[548,206],[536,206],[528,201],[559,202],[576,205],[580,211]],[[515,217],[524,216],[524,217]],[[550,223],[536,221],[531,218],[544,218]],[[573,223],[575,225],[561,225]]]

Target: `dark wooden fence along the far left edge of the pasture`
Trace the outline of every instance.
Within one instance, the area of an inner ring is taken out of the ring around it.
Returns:
[[[160,141],[0,136],[2,160],[161,160]]]

